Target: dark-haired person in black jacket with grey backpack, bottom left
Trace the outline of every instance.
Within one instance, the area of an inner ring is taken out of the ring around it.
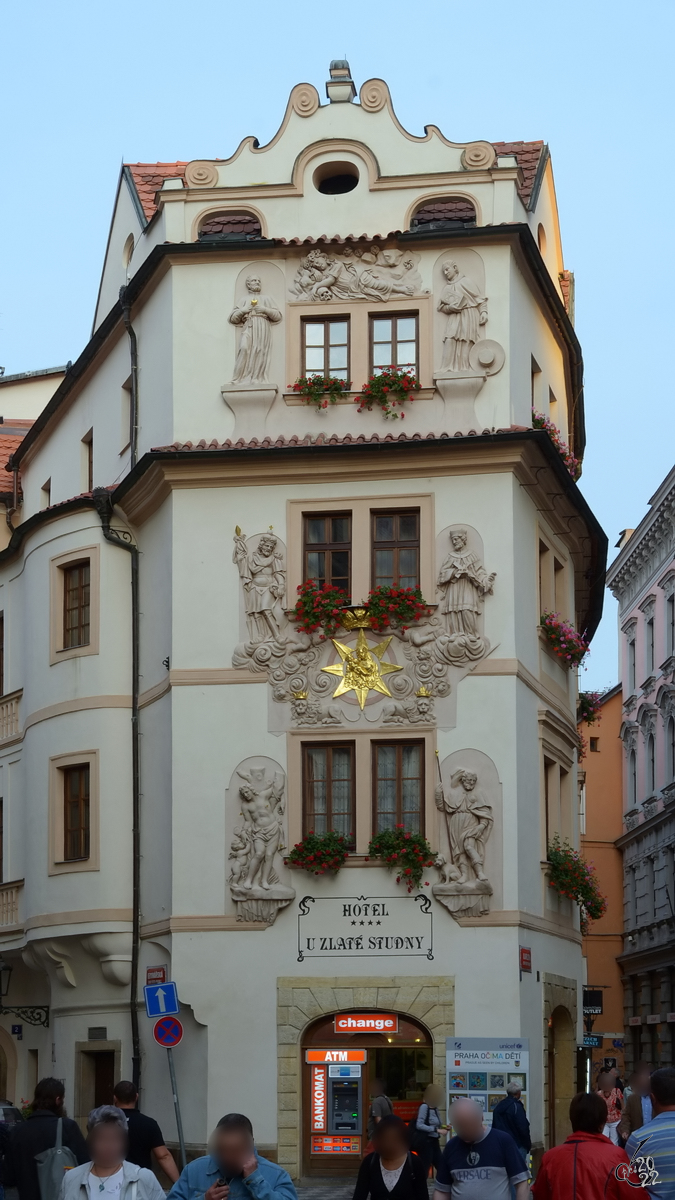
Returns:
[[[60,1079],[41,1079],[35,1088],[28,1121],[18,1121],[10,1134],[5,1157],[5,1184],[19,1190],[19,1200],[41,1200],[35,1156],[56,1142],[56,1121],[62,1117],[62,1144],[78,1164],[89,1162],[79,1126],[64,1116],[65,1090]]]

